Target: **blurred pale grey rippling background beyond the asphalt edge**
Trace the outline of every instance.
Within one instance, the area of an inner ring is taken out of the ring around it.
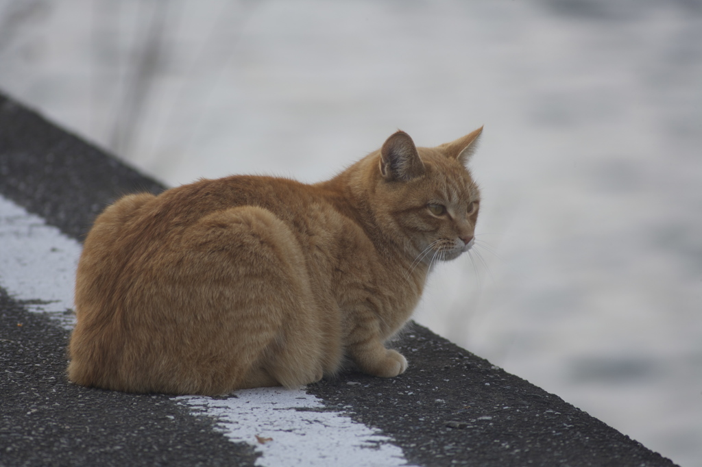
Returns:
[[[702,1],[0,0],[0,89],[170,185],[484,124],[416,319],[702,466]]]

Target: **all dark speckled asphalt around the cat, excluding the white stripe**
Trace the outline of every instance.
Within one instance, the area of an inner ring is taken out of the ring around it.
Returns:
[[[121,194],[164,189],[0,95],[0,194],[81,239]],[[1,247],[0,247],[1,248]],[[1,252],[1,249],[0,249]],[[68,331],[0,290],[0,465],[252,465],[257,454],[164,395],[65,378]],[[307,387],[380,428],[423,466],[672,466],[585,412],[424,327],[397,342],[394,379],[349,371]]]

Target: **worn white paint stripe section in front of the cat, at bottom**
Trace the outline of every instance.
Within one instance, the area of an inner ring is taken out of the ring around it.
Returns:
[[[259,388],[236,398],[178,398],[218,417],[234,442],[248,442],[263,454],[260,466],[406,466],[402,449],[378,430],[352,421],[303,389]],[[258,437],[258,438],[257,438]],[[312,454],[312,455],[310,455]]]

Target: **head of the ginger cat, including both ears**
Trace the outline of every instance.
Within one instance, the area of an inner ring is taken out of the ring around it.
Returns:
[[[376,220],[422,262],[454,259],[473,245],[480,191],[466,164],[480,133],[482,127],[438,147],[418,148],[398,131],[374,154]]]

